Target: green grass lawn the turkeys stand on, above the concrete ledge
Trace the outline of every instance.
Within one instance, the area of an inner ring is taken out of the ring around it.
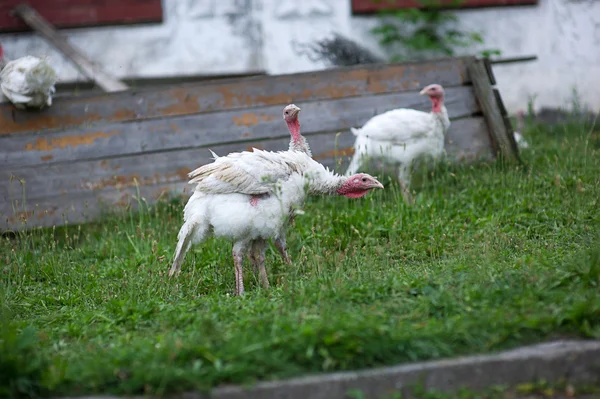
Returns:
[[[524,165],[442,165],[317,198],[270,290],[209,240],[166,277],[182,203],[0,243],[0,396],[164,394],[600,338],[600,134],[533,126]]]

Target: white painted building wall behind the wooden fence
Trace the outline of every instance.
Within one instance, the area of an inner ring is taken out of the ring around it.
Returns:
[[[325,68],[297,55],[292,43],[332,31],[376,52],[369,29],[374,17],[352,17],[350,0],[163,0],[160,25],[64,31],[71,43],[118,77],[244,73],[270,74]],[[535,105],[568,105],[573,89],[600,109],[600,1],[540,0],[531,7],[458,11],[460,24],[479,31],[484,48],[535,62],[496,65],[494,73],[509,112]],[[11,58],[50,56],[62,81],[82,80],[77,70],[33,34],[0,35]]]

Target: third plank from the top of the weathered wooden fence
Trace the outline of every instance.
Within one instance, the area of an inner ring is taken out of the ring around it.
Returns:
[[[348,130],[319,133],[309,137],[313,156],[319,162],[343,172],[354,153],[355,137]],[[218,155],[250,150],[252,147],[278,151],[286,149],[289,137],[245,145],[226,144],[211,147]],[[491,154],[489,136],[482,117],[452,122],[446,138],[446,151],[454,161],[468,161]],[[192,169],[212,162],[206,148],[160,152],[48,167],[20,168],[0,171],[0,195],[5,202],[42,200],[52,196],[80,196],[117,188],[176,183],[187,181]],[[21,182],[25,182],[25,188]]]

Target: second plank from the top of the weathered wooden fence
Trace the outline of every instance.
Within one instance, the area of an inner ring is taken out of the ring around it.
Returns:
[[[414,92],[296,103],[302,131],[343,130],[361,126],[373,115],[398,107],[428,110],[427,98]],[[451,118],[479,112],[472,87],[446,91]],[[160,120],[112,123],[53,131],[43,135],[0,136],[0,167],[15,169],[82,159],[100,159],[148,151],[197,148],[223,143],[288,137],[283,105]]]

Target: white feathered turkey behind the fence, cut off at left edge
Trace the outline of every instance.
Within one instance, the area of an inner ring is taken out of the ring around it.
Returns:
[[[31,55],[8,61],[0,44],[0,88],[15,107],[51,106],[55,84],[56,72],[46,61]]]

